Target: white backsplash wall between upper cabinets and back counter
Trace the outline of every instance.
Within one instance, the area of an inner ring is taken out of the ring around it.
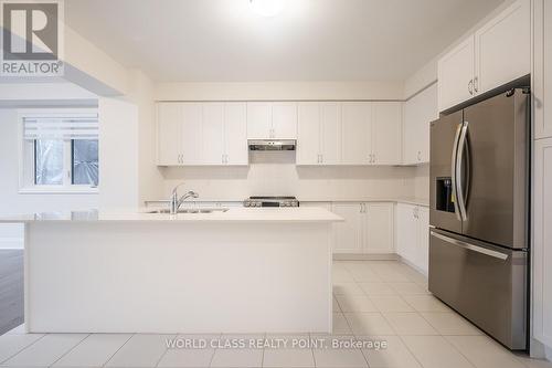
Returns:
[[[296,167],[294,153],[252,153],[248,167],[163,168],[164,194],[185,182],[200,199],[241,201],[250,196],[299,200],[412,197],[408,167]],[[183,188],[183,189],[184,189]]]

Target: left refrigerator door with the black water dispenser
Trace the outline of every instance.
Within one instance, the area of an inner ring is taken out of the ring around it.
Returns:
[[[457,233],[461,232],[461,221],[453,178],[461,124],[461,111],[431,124],[429,223]]]

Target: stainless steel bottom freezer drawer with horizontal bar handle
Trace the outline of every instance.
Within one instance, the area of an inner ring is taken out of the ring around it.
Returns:
[[[429,230],[429,291],[510,349],[527,346],[527,253]]]

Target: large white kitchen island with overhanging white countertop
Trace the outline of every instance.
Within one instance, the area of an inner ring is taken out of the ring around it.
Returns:
[[[25,224],[30,333],[330,333],[319,208],[72,212]]]

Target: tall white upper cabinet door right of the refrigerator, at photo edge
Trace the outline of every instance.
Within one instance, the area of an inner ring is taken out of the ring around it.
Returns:
[[[552,137],[552,3],[534,0],[532,96],[534,137]]]

